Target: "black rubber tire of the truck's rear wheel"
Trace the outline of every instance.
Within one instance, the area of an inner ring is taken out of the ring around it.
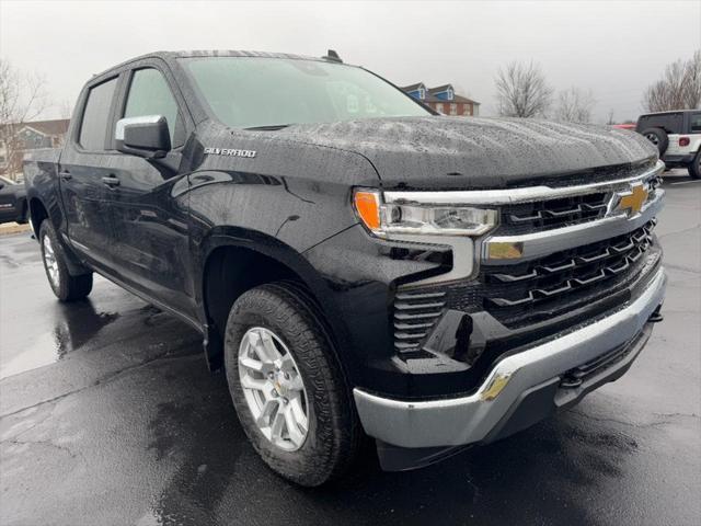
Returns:
[[[56,278],[51,278],[51,272],[49,271],[49,263],[47,262],[47,243],[45,238],[48,239],[48,247],[54,251],[54,259],[56,262]],[[48,219],[42,221],[39,228],[39,247],[42,249],[42,261],[44,262],[44,271],[46,272],[46,278],[48,284],[54,290],[56,297],[61,301],[76,301],[82,299],[92,290],[92,273],[81,274],[79,276],[71,276],[66,265],[66,253],[64,245],[56,235],[54,226]]]

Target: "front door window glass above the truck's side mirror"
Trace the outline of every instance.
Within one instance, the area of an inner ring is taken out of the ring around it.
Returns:
[[[131,77],[131,85],[127,96],[125,117],[142,117],[146,115],[163,115],[171,133],[171,145],[182,146],[183,129],[177,103],[171,93],[168,82],[158,69],[138,69]]]

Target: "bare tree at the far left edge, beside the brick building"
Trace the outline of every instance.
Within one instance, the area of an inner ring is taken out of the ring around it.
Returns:
[[[47,107],[46,80],[27,75],[0,58],[0,149],[4,150],[5,172],[22,169],[22,125],[35,119]]]

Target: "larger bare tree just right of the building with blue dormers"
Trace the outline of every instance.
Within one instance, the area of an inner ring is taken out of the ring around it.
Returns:
[[[537,64],[513,61],[498,70],[495,83],[499,115],[543,116],[552,103],[552,88]]]

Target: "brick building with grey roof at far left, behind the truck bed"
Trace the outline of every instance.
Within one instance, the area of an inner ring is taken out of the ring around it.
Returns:
[[[15,180],[21,176],[26,151],[62,146],[69,123],[59,118],[0,126],[0,174]]]

